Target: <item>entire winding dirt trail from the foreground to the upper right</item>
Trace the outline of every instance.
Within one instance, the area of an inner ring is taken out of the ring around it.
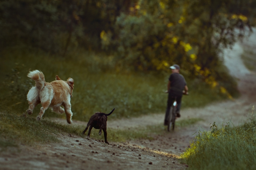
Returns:
[[[230,74],[238,78],[241,97],[235,100],[216,102],[203,108],[181,110],[181,118],[201,118],[203,121],[185,128],[177,128],[155,140],[135,140],[107,145],[96,140],[87,140],[70,134],[57,137],[62,143],[8,148],[0,153],[0,169],[185,169],[178,162],[179,155],[193,140],[199,128],[209,129],[213,122],[229,122],[239,125],[247,119],[256,99],[256,74],[243,65],[240,55],[244,48],[256,50],[256,30],[245,42],[237,42],[233,49],[224,51],[223,60]],[[256,51],[254,51],[256,53]],[[139,118],[108,121],[108,127],[127,129],[163,123],[164,113]],[[55,119],[60,123],[65,120]],[[73,126],[85,126],[85,122],[73,121]]]

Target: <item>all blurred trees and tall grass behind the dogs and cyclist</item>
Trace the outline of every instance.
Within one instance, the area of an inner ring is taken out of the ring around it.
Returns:
[[[182,107],[237,97],[218,56],[255,26],[255,9],[256,0],[2,0],[0,109],[26,111],[34,69],[47,82],[74,79],[73,118],[84,121],[113,108],[113,118],[164,112],[174,63],[191,92]]]

